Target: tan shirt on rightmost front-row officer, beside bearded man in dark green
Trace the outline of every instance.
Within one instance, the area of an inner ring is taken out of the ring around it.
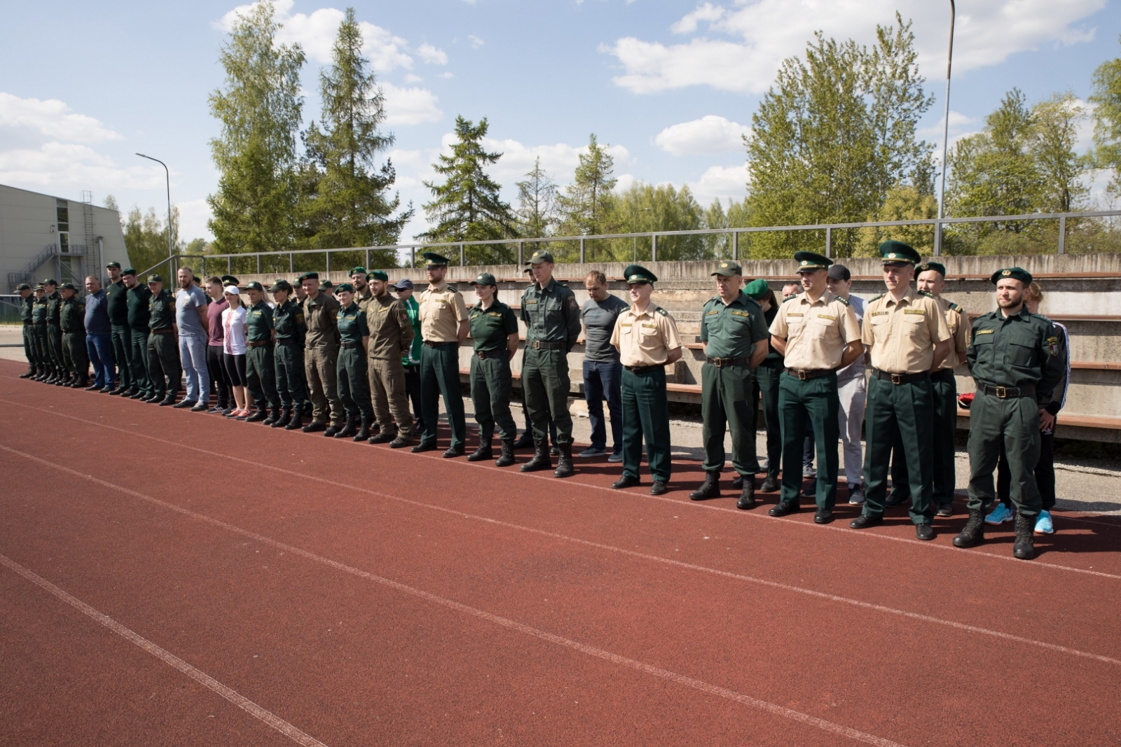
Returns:
[[[871,348],[872,365],[884,373],[929,371],[934,346],[947,339],[942,306],[914,288],[898,302],[884,293],[864,306],[864,345]]]

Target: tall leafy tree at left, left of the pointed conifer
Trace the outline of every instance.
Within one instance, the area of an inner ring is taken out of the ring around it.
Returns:
[[[223,252],[284,250],[295,242],[296,136],[303,109],[299,45],[278,45],[268,0],[239,16],[222,46],[222,90],[210,96],[221,134],[211,140],[219,187],[209,226]]]

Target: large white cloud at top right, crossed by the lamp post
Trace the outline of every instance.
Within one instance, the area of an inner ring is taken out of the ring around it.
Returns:
[[[995,65],[1045,45],[1086,41],[1095,29],[1078,24],[1104,6],[1105,0],[975,0],[958,10],[954,69]],[[634,93],[689,85],[761,93],[782,59],[800,55],[817,29],[869,44],[876,25],[893,22],[897,9],[915,21],[919,65],[937,71],[945,60],[949,19],[943,3],[929,0],[757,0],[736,2],[732,10],[706,2],[671,30],[692,34],[703,20],[708,21],[710,32],[726,38],[701,36],[667,46],[626,37],[601,50],[614,55],[624,68],[612,78],[614,83]]]

